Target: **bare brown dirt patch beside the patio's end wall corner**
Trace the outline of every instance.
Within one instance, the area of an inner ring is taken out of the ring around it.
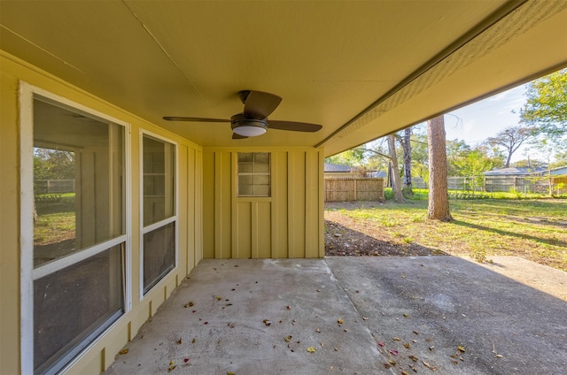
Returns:
[[[405,243],[403,237],[392,239],[380,226],[368,220],[356,220],[340,209],[359,208],[361,203],[327,203],[325,210],[325,256],[442,256],[438,249],[429,249],[416,243]],[[365,202],[367,208],[378,207],[379,202]]]

